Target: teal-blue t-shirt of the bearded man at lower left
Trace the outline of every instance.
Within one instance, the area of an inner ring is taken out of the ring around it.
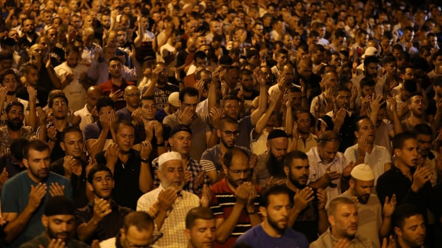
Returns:
[[[73,200],[72,186],[64,176],[49,172],[48,178],[42,183],[48,186],[46,196],[41,199],[39,207],[35,209],[21,234],[10,243],[10,247],[19,247],[24,242],[39,236],[45,231],[45,227],[41,223],[41,216],[44,214],[44,205],[50,198],[49,186],[51,183],[58,183],[60,186],[64,186],[64,196]],[[17,213],[20,215],[28,205],[31,185],[35,187],[37,183],[28,176],[27,171],[20,172],[7,180],[1,192],[1,211],[3,213]]]

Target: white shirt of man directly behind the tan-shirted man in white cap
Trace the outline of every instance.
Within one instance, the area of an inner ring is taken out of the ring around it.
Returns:
[[[352,161],[356,163],[358,160],[358,144],[348,147],[344,155],[347,163]],[[392,156],[388,153],[387,148],[373,145],[372,153],[365,152],[364,163],[373,169],[374,185],[376,185],[378,177],[384,174],[384,165],[392,163]]]

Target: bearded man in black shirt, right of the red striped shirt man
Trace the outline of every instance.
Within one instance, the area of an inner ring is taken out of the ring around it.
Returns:
[[[304,152],[289,152],[284,159],[285,185],[294,198],[294,207],[289,213],[289,227],[302,232],[309,242],[318,239],[329,226],[325,204],[327,194],[324,189],[307,186],[309,179],[309,159]]]

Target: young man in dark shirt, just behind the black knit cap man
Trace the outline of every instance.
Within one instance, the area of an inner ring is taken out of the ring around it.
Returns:
[[[121,207],[112,199],[115,185],[111,169],[106,165],[95,165],[88,172],[88,190],[93,192],[93,200],[75,210],[77,236],[90,243],[92,240],[113,238],[123,226],[123,218],[133,211]]]

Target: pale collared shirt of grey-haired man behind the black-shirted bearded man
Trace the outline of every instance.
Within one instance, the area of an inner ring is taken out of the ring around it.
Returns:
[[[318,147],[313,147],[309,152],[307,152],[309,158],[309,183],[315,182],[321,176],[327,172],[327,167],[330,170],[336,171],[339,174],[343,173],[345,166],[347,166],[347,160],[341,152],[337,152],[332,163],[325,163],[319,156]],[[332,180],[330,185],[325,188],[325,193],[327,193],[327,199],[333,200],[336,196],[340,195],[340,178]]]

